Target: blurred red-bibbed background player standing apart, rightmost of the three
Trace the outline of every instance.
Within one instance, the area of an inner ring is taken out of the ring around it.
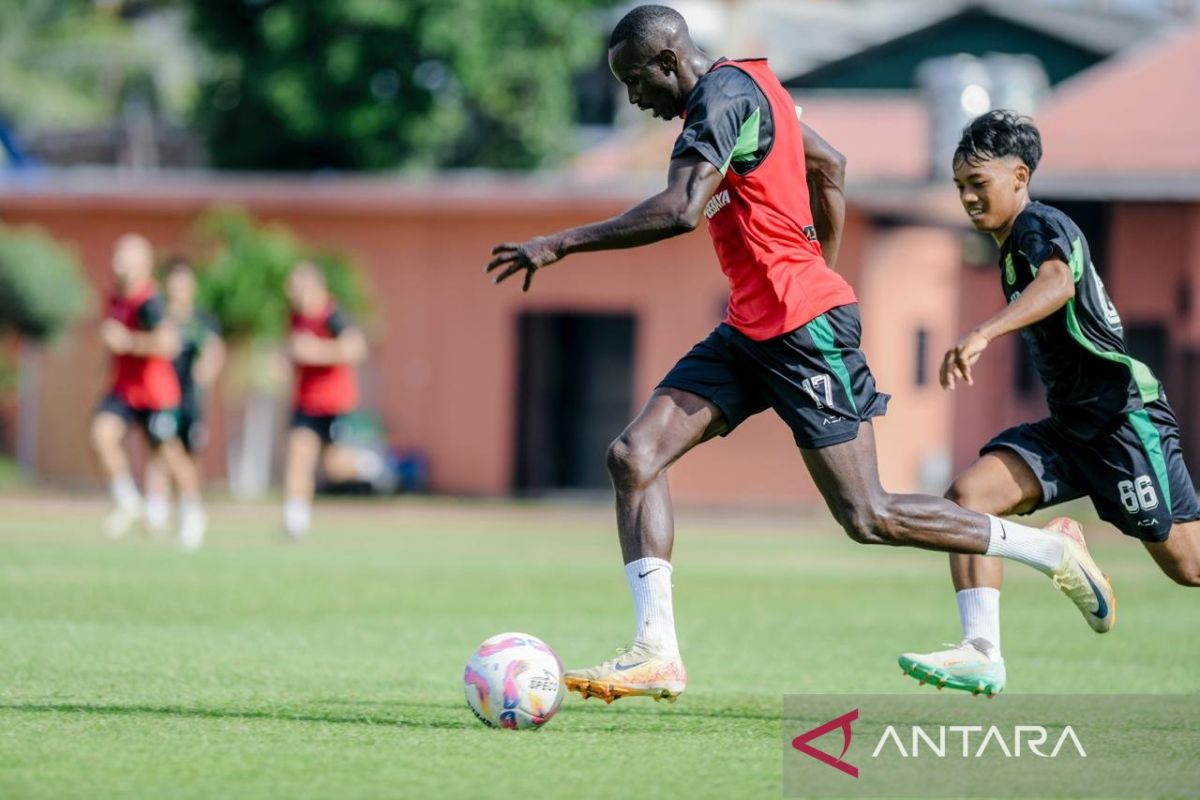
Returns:
[[[354,367],[367,354],[362,331],[337,308],[316,264],[301,261],[288,276],[295,396],[283,468],[283,530],[292,539],[308,533],[317,463],[332,480],[358,475],[355,457],[337,445],[343,416],[359,403]],[[322,452],[324,451],[324,458]]]

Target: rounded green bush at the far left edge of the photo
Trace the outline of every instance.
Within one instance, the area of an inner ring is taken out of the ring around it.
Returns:
[[[53,338],[90,297],[74,253],[34,228],[0,224],[0,333]]]

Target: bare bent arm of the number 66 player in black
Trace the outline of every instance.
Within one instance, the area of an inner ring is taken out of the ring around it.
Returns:
[[[940,375],[942,387],[954,389],[958,380],[973,386],[971,367],[979,360],[989,343],[1045,319],[1074,296],[1075,278],[1070,266],[1057,258],[1044,261],[1021,296],[946,351]]]

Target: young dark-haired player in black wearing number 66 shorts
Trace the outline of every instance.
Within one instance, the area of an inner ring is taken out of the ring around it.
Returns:
[[[1030,199],[1040,157],[1038,130],[1004,110],[972,121],[954,152],[962,207],[976,230],[1000,245],[1008,306],[946,353],[942,386],[971,385],[972,367],[988,344],[1020,331],[1045,384],[1050,416],[985,444],[946,497],[1003,516],[1086,495],[1102,519],[1140,540],[1171,579],[1198,587],[1200,505],[1180,452],[1175,414],[1158,378],[1126,350],[1121,318],[1079,227],[1058,209]],[[907,652],[900,666],[922,682],[998,692],[1007,678],[1000,651],[1003,565],[953,553],[950,577],[962,643]]]

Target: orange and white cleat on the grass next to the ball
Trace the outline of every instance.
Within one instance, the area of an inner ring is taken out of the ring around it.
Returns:
[[[566,670],[563,682],[583,699],[612,703],[622,697],[653,697],[674,703],[688,686],[688,673],[678,655],[661,655],[635,642],[598,667]]]

